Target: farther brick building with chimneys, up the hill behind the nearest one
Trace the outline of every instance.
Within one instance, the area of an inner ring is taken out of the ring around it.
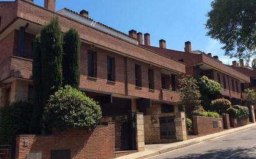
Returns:
[[[147,35],[149,39],[149,35]],[[243,100],[242,92],[244,85],[250,83],[250,77],[219,61],[218,56],[203,51],[192,51],[190,41],[185,42],[185,51],[176,51],[166,48],[166,41],[159,40],[159,47],[150,46],[150,43],[141,45],[144,48],[156,51],[168,56],[171,59],[184,62],[186,65],[186,75],[206,75],[221,84],[220,97],[231,100],[232,104],[240,104]]]

